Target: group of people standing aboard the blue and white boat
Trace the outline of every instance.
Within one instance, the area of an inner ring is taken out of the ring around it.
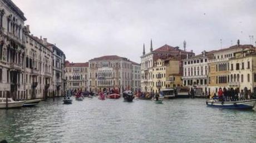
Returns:
[[[217,95],[214,94],[214,98],[217,98]],[[239,90],[239,88],[219,88],[218,90],[218,100],[219,101],[238,101],[238,100],[247,100],[252,99],[252,91]]]

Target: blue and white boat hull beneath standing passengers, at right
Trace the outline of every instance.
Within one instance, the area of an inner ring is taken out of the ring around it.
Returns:
[[[215,99],[206,101],[206,105],[214,108],[226,108],[226,109],[253,109],[256,103],[256,99],[240,100],[240,101],[227,101],[221,102]]]

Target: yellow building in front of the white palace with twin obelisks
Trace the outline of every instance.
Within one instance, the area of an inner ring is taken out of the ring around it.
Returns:
[[[157,93],[160,89],[182,85],[180,67],[178,59],[157,59],[152,70],[152,91]]]

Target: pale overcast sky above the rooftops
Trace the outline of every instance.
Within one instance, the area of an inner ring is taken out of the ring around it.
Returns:
[[[256,1],[85,1],[13,0],[24,12],[31,33],[48,38],[70,62],[120,55],[140,62],[164,44],[196,54],[256,39]],[[255,43],[254,43],[255,44]]]

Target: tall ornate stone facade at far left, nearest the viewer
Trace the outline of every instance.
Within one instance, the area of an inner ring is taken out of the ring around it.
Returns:
[[[0,1],[0,97],[22,99],[25,35],[23,12],[12,1]]]

